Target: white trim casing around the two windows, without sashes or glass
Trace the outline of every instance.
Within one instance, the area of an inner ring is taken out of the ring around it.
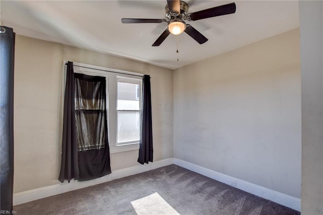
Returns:
[[[63,62],[63,96],[62,96],[62,104],[64,104],[64,94],[65,94],[65,84],[66,84],[66,63],[68,61]],[[142,76],[143,74],[134,73],[124,70],[117,70],[112,68],[106,67],[99,67],[89,64],[82,64],[73,62],[74,66],[82,66],[82,67],[74,67],[74,73],[83,73],[86,75],[97,75],[106,77],[106,110],[107,110],[107,129],[108,129],[108,138],[109,138],[109,146],[110,146],[110,153],[118,153],[123,151],[131,151],[131,150],[138,150],[139,149],[139,142],[129,143],[129,144],[120,144],[117,145],[117,77],[122,78],[129,78],[129,79],[136,79],[140,83],[142,83],[142,78],[133,75]],[[97,70],[95,70],[97,69]],[[105,71],[100,71],[105,70]],[[111,72],[106,72],[111,71]],[[123,74],[118,74],[118,73]],[[64,108],[63,108],[64,110]]]

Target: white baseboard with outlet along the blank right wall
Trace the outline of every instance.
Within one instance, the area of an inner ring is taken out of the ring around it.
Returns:
[[[240,190],[246,191],[248,193],[254,194],[256,196],[262,197],[264,199],[271,200],[273,202],[282,204],[284,206],[293,208],[295,210],[301,210],[301,199],[295,198],[293,196],[289,196],[280,192],[276,192],[274,190],[270,190],[231,176],[227,176],[222,173],[218,173],[213,170],[206,169],[204,167],[200,167],[198,165],[186,162],[184,160],[174,158],[174,164],[180,167],[183,167],[187,170],[199,173],[208,178],[220,181],[222,183],[228,184],[232,187],[236,187]],[[236,186],[232,185],[233,182],[236,182]]]

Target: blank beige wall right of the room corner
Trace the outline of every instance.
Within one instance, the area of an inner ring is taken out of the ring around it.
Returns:
[[[175,70],[174,157],[300,198],[299,29]]]

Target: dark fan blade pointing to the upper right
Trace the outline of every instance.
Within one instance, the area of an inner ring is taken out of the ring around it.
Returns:
[[[214,8],[205,9],[203,11],[197,11],[187,15],[188,21],[195,21],[200,19],[206,19],[211,17],[217,17],[227,14],[234,14],[236,12],[236,4],[230,3]]]

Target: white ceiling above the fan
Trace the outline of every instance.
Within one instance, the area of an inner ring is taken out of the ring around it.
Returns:
[[[122,24],[121,18],[166,19],[167,1],[3,1],[4,25],[17,34],[176,69],[299,26],[298,1],[186,1],[188,13],[236,3],[236,13],[189,22],[208,41],[185,32],[151,44],[167,24]]]

